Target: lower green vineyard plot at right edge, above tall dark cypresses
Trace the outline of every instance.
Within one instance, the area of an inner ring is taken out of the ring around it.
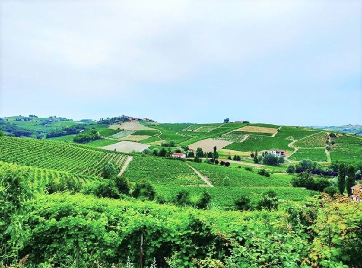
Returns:
[[[331,147],[331,160],[361,160],[362,145],[359,144],[336,144]]]

